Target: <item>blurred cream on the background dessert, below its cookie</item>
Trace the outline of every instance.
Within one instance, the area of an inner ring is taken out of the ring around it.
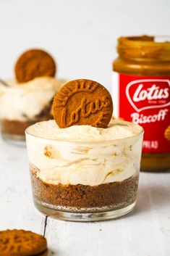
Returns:
[[[63,83],[41,77],[20,84],[7,80],[7,85],[0,83],[0,119],[27,121],[33,120],[50,104]]]

